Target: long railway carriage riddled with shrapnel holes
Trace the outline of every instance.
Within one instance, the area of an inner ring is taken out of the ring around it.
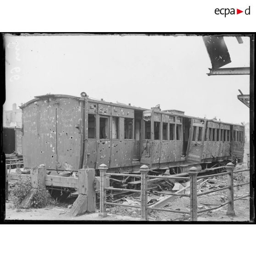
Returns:
[[[193,165],[243,161],[245,128],[185,116],[183,111],[151,110],[70,95],[41,95],[23,104],[24,167],[44,164],[57,173],[95,168],[109,172],[187,172]]]

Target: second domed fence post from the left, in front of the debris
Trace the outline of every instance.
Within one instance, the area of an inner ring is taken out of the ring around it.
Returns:
[[[143,165],[139,169],[141,173],[141,187],[140,187],[140,220],[147,220],[148,219],[148,172],[149,167]]]

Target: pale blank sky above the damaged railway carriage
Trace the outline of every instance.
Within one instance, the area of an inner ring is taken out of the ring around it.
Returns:
[[[250,66],[250,39],[224,37],[231,63]],[[36,95],[66,94],[185,115],[249,122],[237,99],[249,94],[249,75],[207,76],[211,61],[201,36],[38,35],[5,36],[6,103]]]

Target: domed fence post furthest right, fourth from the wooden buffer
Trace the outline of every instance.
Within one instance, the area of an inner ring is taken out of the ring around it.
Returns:
[[[235,211],[234,211],[234,182],[233,182],[233,171],[234,171],[234,164],[233,163],[228,163],[225,168],[227,170],[227,178],[228,178],[228,210],[227,210],[227,215],[228,216],[235,216]]]

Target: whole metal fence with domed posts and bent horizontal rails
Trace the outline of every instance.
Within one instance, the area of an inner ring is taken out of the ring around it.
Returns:
[[[228,210],[227,210],[227,215],[228,216],[234,216],[235,211],[234,211],[234,201],[243,199],[249,195],[243,195],[238,198],[234,198],[234,187],[238,186],[244,186],[246,184],[250,184],[250,182],[245,182],[241,184],[236,184],[234,185],[234,179],[233,175],[234,173],[242,173],[245,171],[248,171],[249,169],[243,169],[243,170],[237,170],[234,171],[234,164],[233,163],[228,163],[224,168],[226,169],[225,173],[217,173],[217,174],[210,174],[210,175],[204,175],[204,176],[198,176],[200,172],[197,171],[195,167],[191,167],[189,169],[189,177],[177,177],[177,176],[153,176],[153,175],[148,175],[149,168],[146,165],[143,165],[140,167],[140,175],[139,174],[120,174],[120,173],[107,173],[108,168],[106,165],[102,164],[99,167],[100,170],[100,212],[99,216],[100,217],[106,217],[107,212],[106,212],[106,206],[123,206],[123,207],[132,207],[132,208],[139,208],[140,209],[140,219],[141,220],[147,220],[148,219],[148,211],[153,210],[153,211],[167,211],[167,212],[175,212],[175,213],[183,213],[183,214],[189,214],[190,215],[190,221],[197,221],[197,216],[198,213],[206,212],[206,211],[212,211],[215,209],[218,209],[220,207],[223,207],[225,205],[228,205]],[[122,176],[122,177],[140,177],[140,184],[141,188],[140,190],[138,189],[118,189],[118,188],[112,188],[112,187],[107,187],[106,186],[106,176],[108,175],[113,175],[113,176]],[[209,191],[205,192],[200,192],[197,193],[197,179],[201,178],[211,178],[211,177],[216,177],[216,176],[223,176],[227,175],[227,186],[224,186],[223,188],[219,189],[211,189]],[[157,179],[176,179],[176,180],[189,180],[190,181],[190,194],[177,194],[177,193],[171,193],[171,192],[159,192],[159,191],[153,191],[153,190],[148,190],[147,185],[150,180],[157,180]],[[118,203],[112,203],[112,202],[107,202],[106,201],[106,190],[116,190],[116,191],[129,191],[129,192],[137,192],[140,193],[140,205],[128,205],[128,204],[118,204]],[[228,199],[225,203],[216,206],[216,207],[211,207],[208,209],[200,210],[198,211],[197,208],[197,198],[198,196],[201,195],[207,195],[213,192],[217,191],[222,191],[222,190],[227,190],[227,195]],[[151,191],[154,192],[154,194],[159,194],[159,195],[171,195],[171,196],[180,196],[180,197],[189,197],[190,198],[190,211],[179,211],[179,210],[173,210],[173,209],[163,209],[163,208],[158,208],[154,206],[148,206],[147,205],[147,192]]]

